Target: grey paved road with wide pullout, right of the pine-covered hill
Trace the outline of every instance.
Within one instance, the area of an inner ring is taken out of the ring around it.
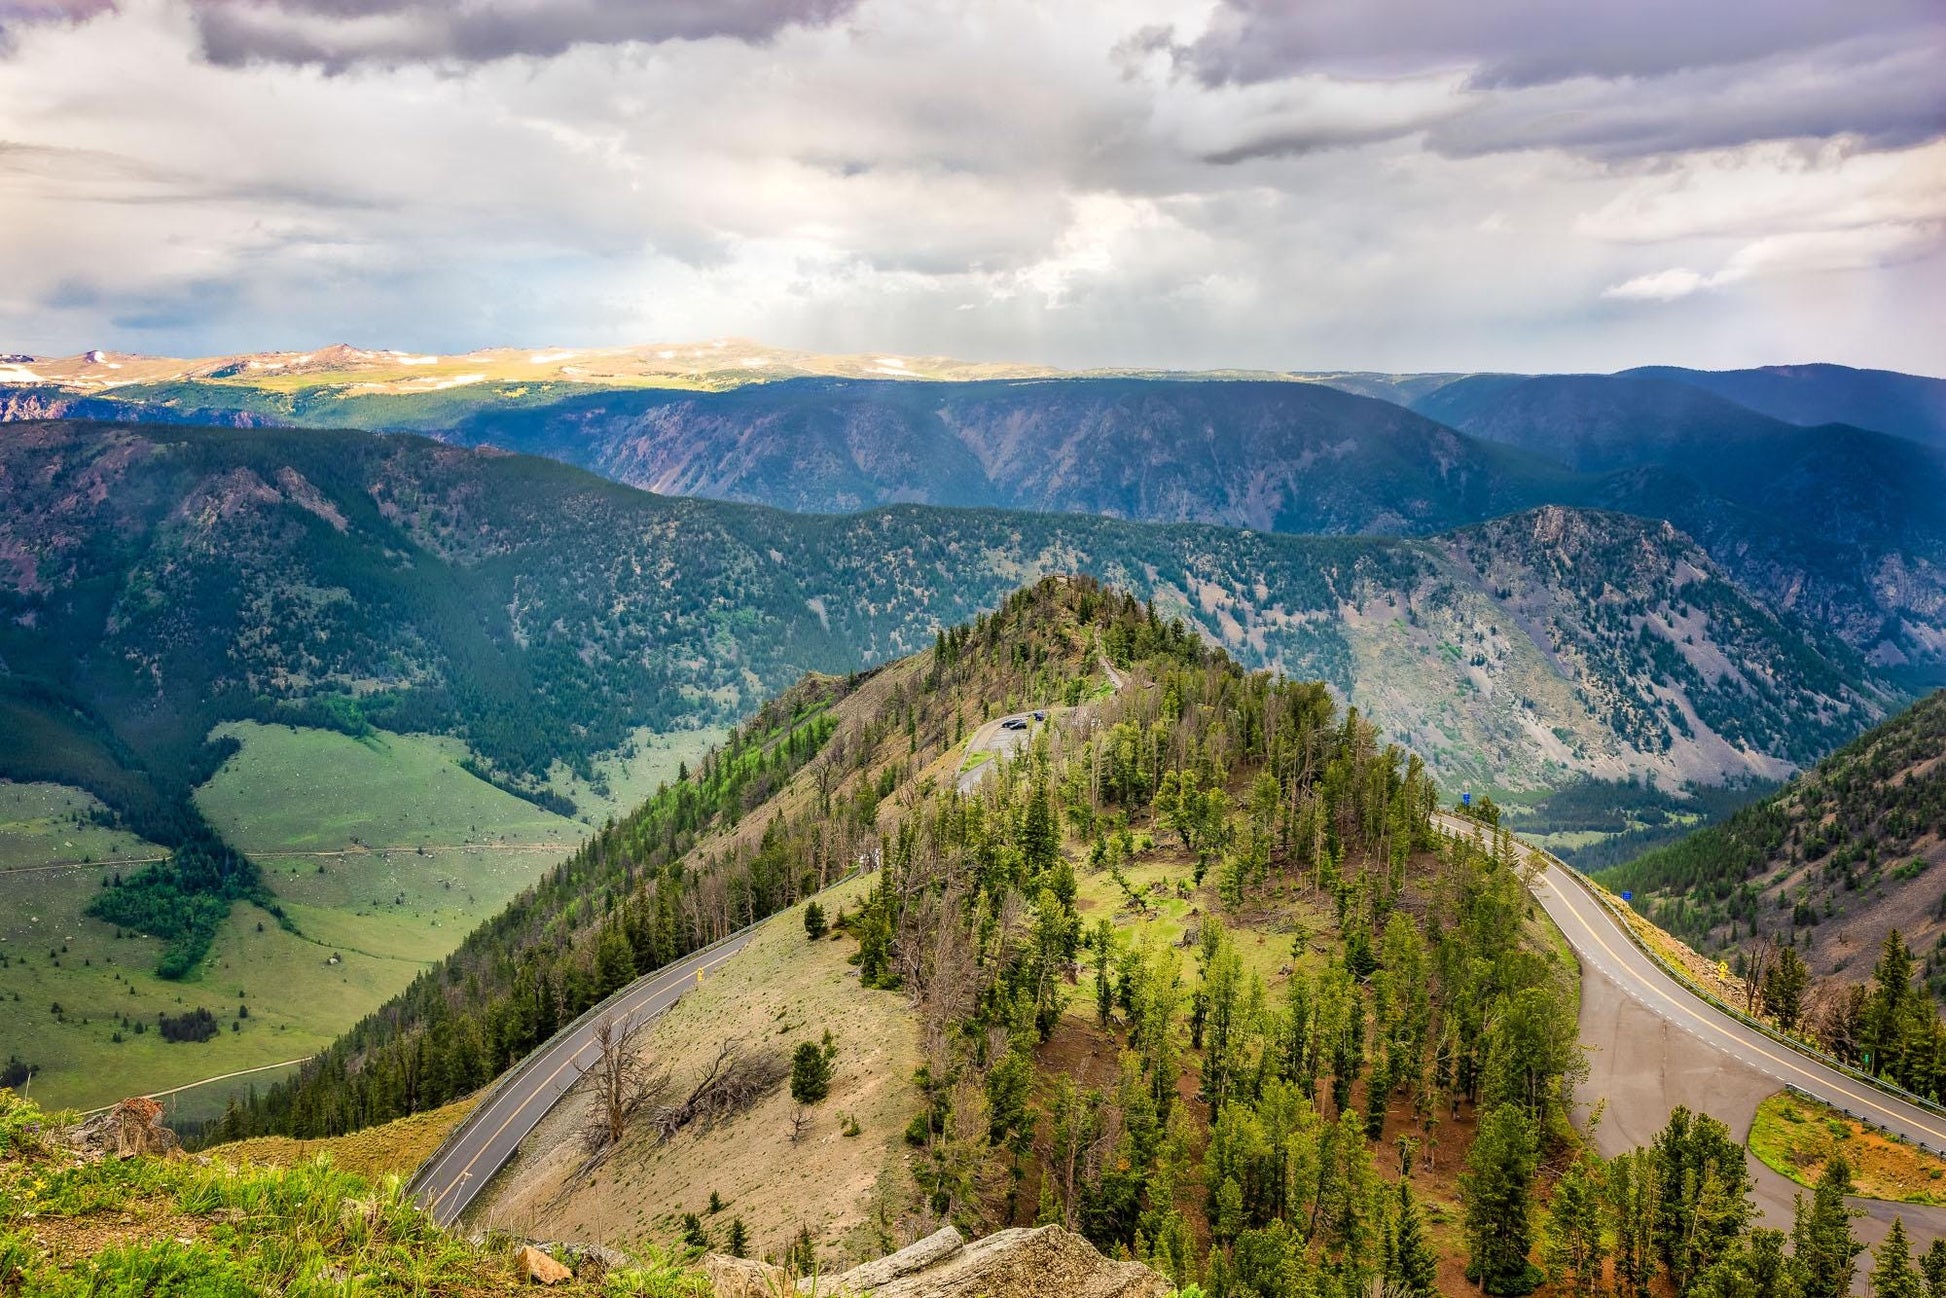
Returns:
[[[1440,825],[1467,837],[1473,831],[1471,821],[1456,817],[1440,817]],[[1695,996],[1629,942],[1615,917],[1563,870],[1549,868],[1535,880],[1533,897],[1580,957],[1580,1037],[1590,1047],[1590,1076],[1576,1121],[1586,1125],[1594,1103],[1602,1103],[1596,1144],[1604,1156],[1648,1144],[1677,1103],[1709,1113],[1746,1140],[1757,1103],[1786,1084],[1909,1140],[1946,1148],[1946,1119],[1798,1053]],[[1788,1230],[1790,1201],[1800,1187],[1753,1154],[1748,1168],[1765,1224]],[[1866,1244],[1882,1240],[1893,1216],[1905,1218],[1921,1247],[1946,1238],[1946,1208],[1876,1199],[1853,1199],[1851,1205],[1860,1212],[1855,1230]],[[1856,1292],[1864,1292],[1868,1269],[1870,1257],[1864,1257]]]

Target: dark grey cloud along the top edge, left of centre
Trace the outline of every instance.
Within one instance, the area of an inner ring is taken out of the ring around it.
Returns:
[[[204,54],[220,64],[477,64],[576,45],[761,43],[829,23],[856,0],[202,0]]]

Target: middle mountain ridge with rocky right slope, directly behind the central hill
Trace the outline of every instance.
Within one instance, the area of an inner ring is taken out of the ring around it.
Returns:
[[[1454,780],[1775,778],[1888,703],[1674,525],[1559,506],[1428,539],[788,514],[416,436],[101,422],[12,426],[0,490],[0,687],[58,736],[6,775],[121,806],[128,780],[179,804],[237,716],[457,734],[531,790],[1059,570],[1331,681]]]

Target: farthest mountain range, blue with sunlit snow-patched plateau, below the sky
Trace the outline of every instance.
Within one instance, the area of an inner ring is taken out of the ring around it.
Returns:
[[[1753,597],[1833,629],[1897,685],[1946,677],[1940,379],[1839,366],[1051,376],[755,344],[560,356],[33,362],[21,370],[45,381],[0,387],[0,416],[413,430],[796,512],[994,506],[1430,535],[1541,504],[1615,510],[1674,522]],[[136,378],[90,378],[111,364]],[[467,381],[414,378],[440,366],[471,366],[446,376]],[[885,374],[913,378],[868,378]]]

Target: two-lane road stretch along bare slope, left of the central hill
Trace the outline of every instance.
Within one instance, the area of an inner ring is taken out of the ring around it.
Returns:
[[[755,930],[745,930],[722,946],[697,952],[636,981],[609,1006],[607,1016],[632,1028],[644,1024],[697,985],[699,975],[741,952]],[[590,1020],[529,1055],[486,1103],[467,1115],[455,1138],[413,1177],[413,1195],[442,1226],[459,1220],[473,1197],[492,1179],[547,1111],[574,1088],[599,1051]]]

